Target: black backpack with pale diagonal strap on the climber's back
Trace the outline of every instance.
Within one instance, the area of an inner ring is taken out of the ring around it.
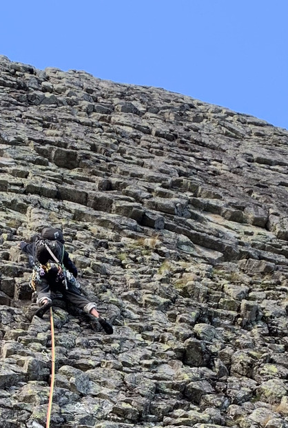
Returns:
[[[38,236],[34,243],[34,261],[45,265],[48,261],[62,263],[64,256],[64,245],[59,241],[50,241]]]

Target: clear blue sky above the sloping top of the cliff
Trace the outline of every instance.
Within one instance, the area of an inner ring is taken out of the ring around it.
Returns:
[[[287,0],[2,0],[0,54],[288,129]]]

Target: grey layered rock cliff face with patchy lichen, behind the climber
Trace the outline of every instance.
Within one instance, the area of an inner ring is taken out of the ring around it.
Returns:
[[[45,426],[17,243],[53,225],[114,334],[54,308],[51,427],[288,427],[288,132],[6,57],[0,86],[0,426]]]

